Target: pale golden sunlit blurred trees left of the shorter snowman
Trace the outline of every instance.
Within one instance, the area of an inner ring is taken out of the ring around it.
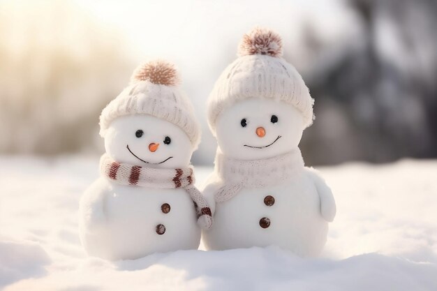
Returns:
[[[132,69],[123,38],[73,1],[0,6],[0,151],[102,148],[98,115]]]

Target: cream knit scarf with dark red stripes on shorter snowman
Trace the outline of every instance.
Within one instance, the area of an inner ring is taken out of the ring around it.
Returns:
[[[193,167],[184,169],[155,169],[114,161],[108,154],[100,160],[103,176],[121,185],[149,188],[184,188],[194,202],[198,215],[198,225],[207,230],[212,225],[211,209],[202,193],[194,186]]]

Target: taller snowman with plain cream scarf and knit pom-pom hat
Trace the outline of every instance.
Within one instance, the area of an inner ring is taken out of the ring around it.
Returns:
[[[276,33],[253,29],[209,96],[218,149],[203,191],[214,214],[202,231],[207,249],[276,245],[315,256],[325,245],[334,197],[298,148],[313,99],[281,54]]]

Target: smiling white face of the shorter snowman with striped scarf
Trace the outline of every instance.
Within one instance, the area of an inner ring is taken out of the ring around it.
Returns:
[[[146,114],[112,121],[105,134],[105,149],[115,161],[161,168],[186,167],[193,154],[181,128]]]

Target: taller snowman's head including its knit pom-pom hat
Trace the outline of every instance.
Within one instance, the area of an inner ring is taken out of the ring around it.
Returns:
[[[313,98],[282,52],[279,34],[255,27],[214,84],[208,124],[226,156],[257,160],[286,154],[311,126]]]

